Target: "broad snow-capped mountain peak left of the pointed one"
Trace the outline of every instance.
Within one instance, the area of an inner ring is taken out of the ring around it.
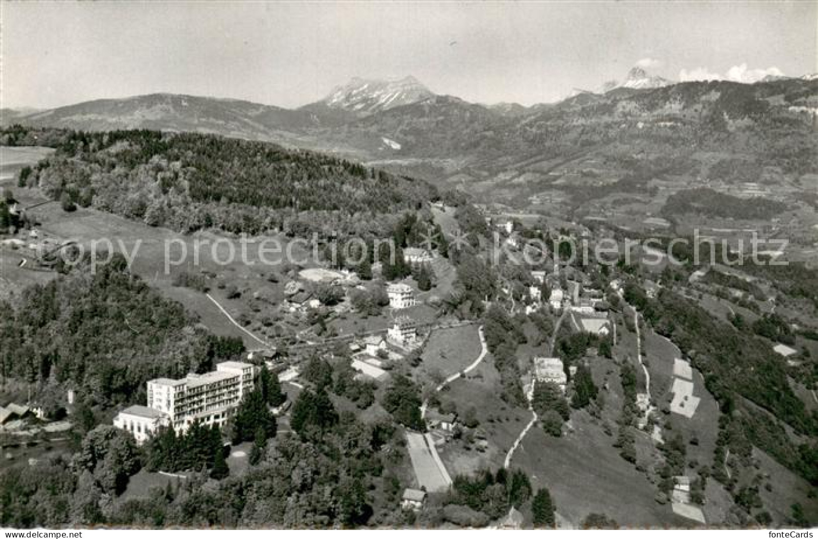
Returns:
[[[433,96],[429,88],[412,76],[397,80],[355,77],[344,86],[335,87],[321,103],[330,109],[374,114],[381,110],[411,105]]]

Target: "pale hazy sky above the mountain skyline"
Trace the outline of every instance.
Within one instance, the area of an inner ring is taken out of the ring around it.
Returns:
[[[0,0],[2,1],[2,0]],[[3,107],[157,91],[293,107],[353,76],[557,100],[640,62],[676,80],[818,71],[818,2],[5,2]]]

